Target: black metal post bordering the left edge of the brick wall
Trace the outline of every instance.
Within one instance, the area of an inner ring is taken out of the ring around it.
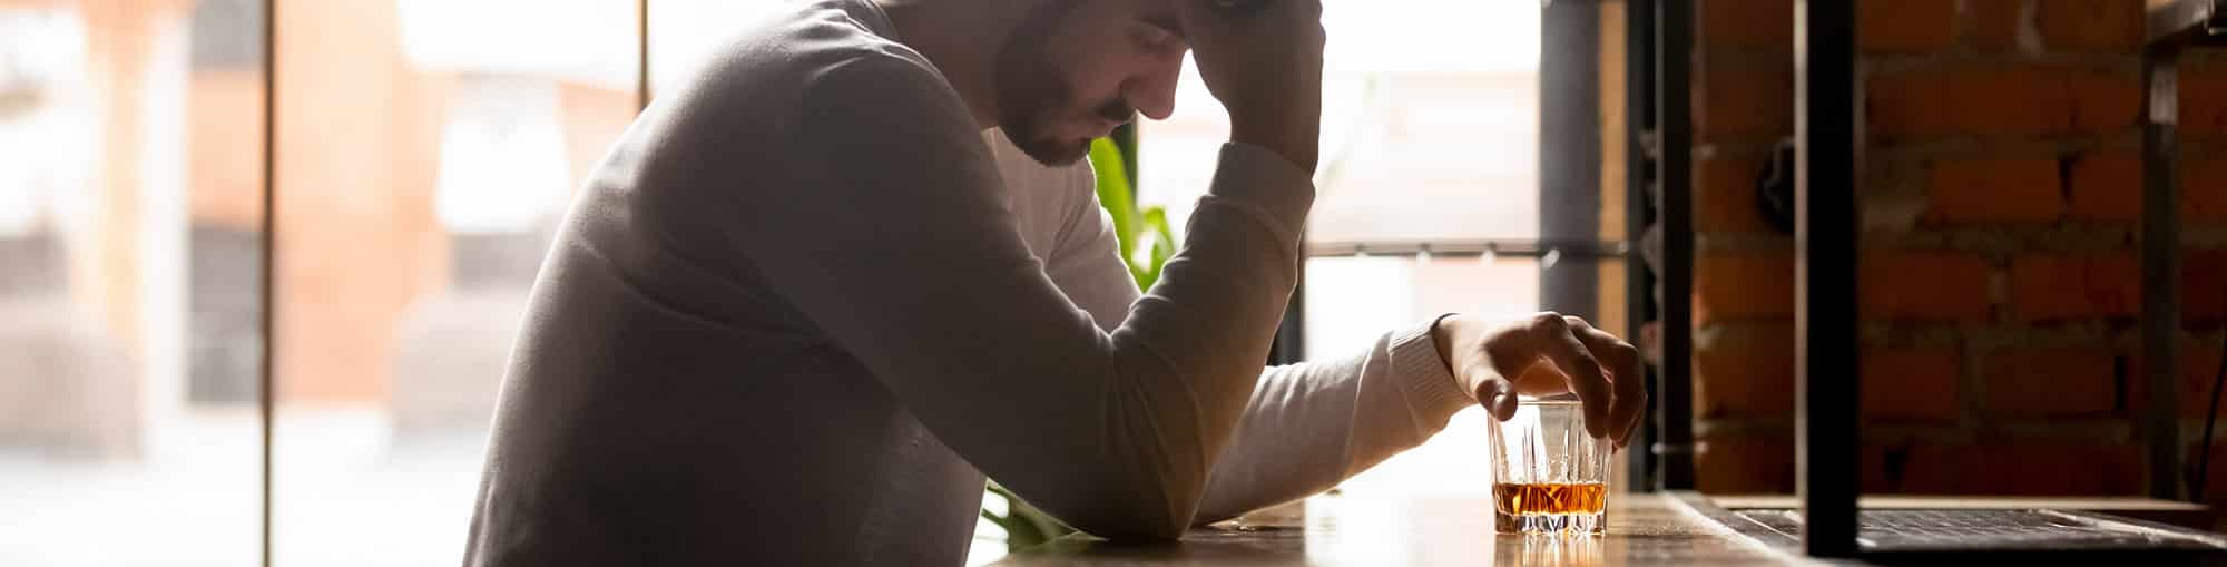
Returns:
[[[1655,2],[1655,116],[1661,172],[1664,301],[1657,487],[1693,489],[1693,0]]]

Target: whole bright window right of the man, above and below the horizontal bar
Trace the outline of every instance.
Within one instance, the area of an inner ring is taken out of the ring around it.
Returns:
[[[1552,250],[1541,246],[1541,219],[1557,210],[1541,205],[1599,203],[1541,199],[1541,42],[1566,40],[1543,36],[1543,13],[1539,2],[1323,2],[1330,33],[1323,161],[1307,221],[1301,317],[1309,357],[1358,353],[1379,335],[1439,313],[1534,313],[1548,304],[1541,286],[1550,270],[1590,270],[1588,279],[1621,275],[1621,263],[1579,252],[1615,248],[1612,241],[1546,257],[1474,252],[1488,241]],[[1590,9],[1574,13],[1588,18],[1581,25],[1597,25]],[[1597,100],[1583,105],[1592,109]],[[1187,67],[1176,116],[1138,129],[1140,201],[1187,217],[1227,132],[1223,107],[1196,67]],[[1419,248],[1470,254],[1414,254]],[[1606,328],[1621,328],[1619,301],[1595,301],[1590,313],[1610,319]],[[1347,480],[1345,489],[1490,491],[1481,420],[1483,413],[1463,411],[1430,444]]]

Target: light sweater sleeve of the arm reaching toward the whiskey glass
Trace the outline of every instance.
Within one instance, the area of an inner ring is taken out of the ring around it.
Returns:
[[[1047,272],[1100,324],[1122,321],[1136,284],[1120,261],[1114,225],[1093,199],[1087,167],[1073,167],[1060,243]],[[1049,190],[1049,188],[1044,188]],[[1327,491],[1412,449],[1472,406],[1430,337],[1439,317],[1381,335],[1367,350],[1260,373],[1229,446],[1214,460],[1196,525]]]

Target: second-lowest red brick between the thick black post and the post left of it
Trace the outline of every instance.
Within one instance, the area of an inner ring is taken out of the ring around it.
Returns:
[[[1795,411],[1793,328],[1719,328],[1693,350],[1693,413],[1701,417],[1786,417]]]

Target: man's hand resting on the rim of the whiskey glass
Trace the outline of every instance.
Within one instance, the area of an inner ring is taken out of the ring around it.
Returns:
[[[1646,415],[1646,368],[1639,348],[1586,319],[1539,313],[1519,321],[1448,315],[1432,326],[1445,368],[1494,420],[1517,413],[1517,395],[1577,393],[1586,433],[1630,442]]]

